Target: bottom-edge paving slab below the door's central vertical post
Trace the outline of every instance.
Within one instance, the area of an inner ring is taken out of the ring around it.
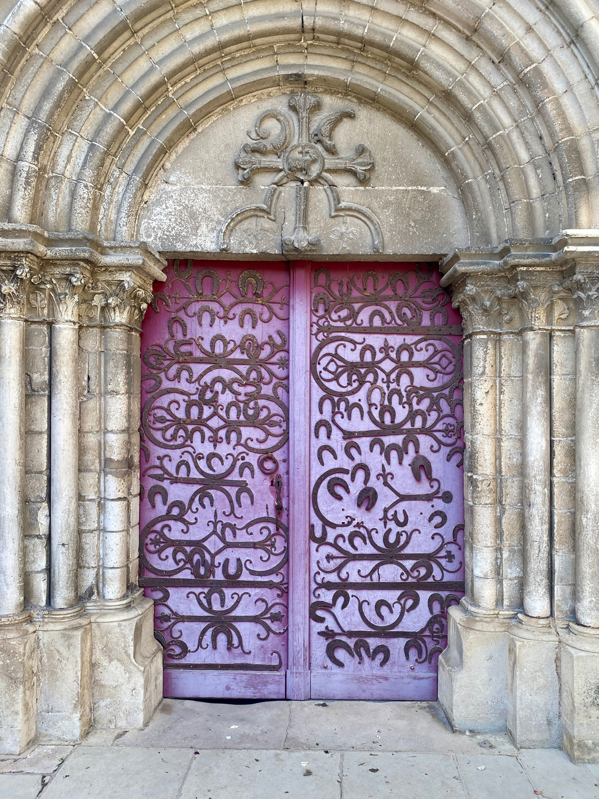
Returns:
[[[196,755],[180,799],[233,797],[339,799],[339,753],[212,749]]]

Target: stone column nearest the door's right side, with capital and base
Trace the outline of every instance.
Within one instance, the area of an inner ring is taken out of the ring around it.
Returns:
[[[466,596],[448,613],[438,698],[454,728],[499,731],[506,729],[506,630],[514,613],[502,608],[498,497],[498,356],[510,291],[483,264],[458,263],[442,283],[453,284],[464,320]]]

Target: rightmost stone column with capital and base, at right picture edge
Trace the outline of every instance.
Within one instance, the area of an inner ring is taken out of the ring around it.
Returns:
[[[590,251],[590,252],[589,252]],[[576,623],[562,635],[562,745],[573,761],[599,761],[599,242],[568,286],[577,301]]]

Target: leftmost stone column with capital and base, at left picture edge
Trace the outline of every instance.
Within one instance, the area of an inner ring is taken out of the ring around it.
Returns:
[[[0,267],[0,752],[35,737],[37,635],[24,611],[25,304],[30,269]]]

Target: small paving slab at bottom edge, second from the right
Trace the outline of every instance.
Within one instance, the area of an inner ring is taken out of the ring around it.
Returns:
[[[534,797],[533,788],[516,757],[482,754],[456,755],[459,775],[470,797],[484,799],[520,799]]]

